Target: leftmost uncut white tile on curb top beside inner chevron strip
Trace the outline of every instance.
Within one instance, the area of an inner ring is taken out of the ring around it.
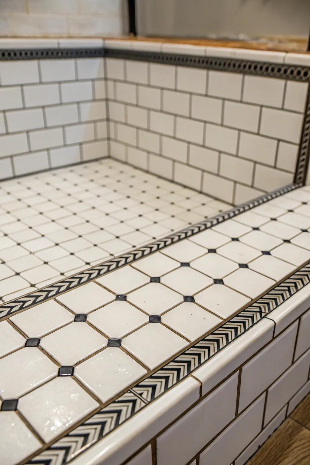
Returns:
[[[41,338],[47,332],[54,331],[60,326],[70,323],[73,319],[74,315],[55,300],[48,300],[43,304],[29,308],[26,312],[11,317],[11,321],[28,338]]]

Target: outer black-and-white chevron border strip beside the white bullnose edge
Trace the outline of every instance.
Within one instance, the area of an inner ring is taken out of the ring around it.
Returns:
[[[89,419],[29,460],[26,465],[65,465],[112,432],[154,399],[264,319],[277,306],[310,283],[310,262],[282,283],[196,342],[157,372],[103,407]]]

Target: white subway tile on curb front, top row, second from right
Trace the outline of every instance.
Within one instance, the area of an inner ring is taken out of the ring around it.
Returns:
[[[297,323],[246,363],[241,372],[239,412],[287,370],[293,358]]]

